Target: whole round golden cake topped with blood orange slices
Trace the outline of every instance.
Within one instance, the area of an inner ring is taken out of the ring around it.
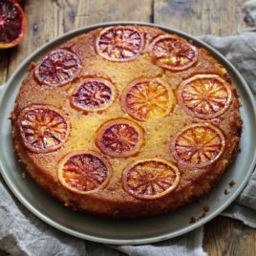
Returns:
[[[192,41],[100,28],[31,65],[11,113],[13,144],[64,205],[141,218],[213,187],[238,151],[239,108],[224,67]]]

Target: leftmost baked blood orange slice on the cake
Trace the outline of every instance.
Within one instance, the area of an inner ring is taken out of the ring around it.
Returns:
[[[17,123],[25,147],[33,153],[53,152],[69,137],[69,122],[52,106],[25,108]]]

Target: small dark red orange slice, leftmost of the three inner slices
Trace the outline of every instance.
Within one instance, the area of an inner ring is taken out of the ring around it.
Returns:
[[[71,96],[71,104],[85,112],[103,111],[116,97],[115,86],[106,79],[87,78],[79,84]]]

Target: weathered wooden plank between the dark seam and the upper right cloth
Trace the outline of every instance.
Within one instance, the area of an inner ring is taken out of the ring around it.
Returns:
[[[243,22],[245,0],[155,0],[154,21],[191,34],[226,35]]]

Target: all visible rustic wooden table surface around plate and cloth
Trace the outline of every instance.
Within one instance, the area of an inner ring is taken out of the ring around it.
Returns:
[[[25,0],[28,32],[15,49],[0,52],[0,84],[39,46],[64,32],[103,21],[135,20],[191,34],[228,35],[243,24],[245,0]],[[209,255],[256,255],[256,230],[224,217],[204,228]],[[0,251],[1,254],[1,251]],[[1,254],[2,255],[2,254]]]

